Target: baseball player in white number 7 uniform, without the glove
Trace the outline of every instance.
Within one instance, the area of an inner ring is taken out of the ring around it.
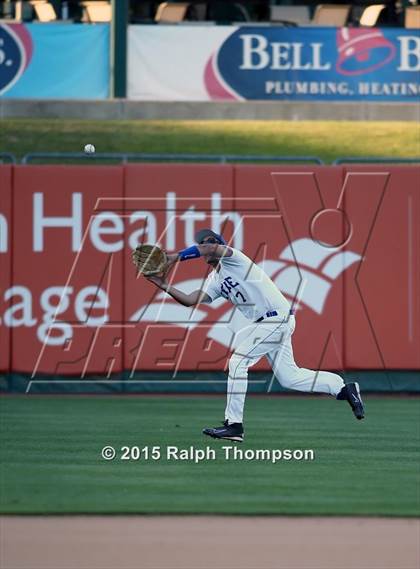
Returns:
[[[211,303],[223,297],[250,321],[247,336],[229,360],[227,403],[222,427],[206,428],[205,435],[242,442],[243,412],[248,387],[248,369],[265,356],[283,387],[297,391],[328,393],[347,400],[357,419],[364,418],[358,383],[344,384],[328,371],[300,368],[293,357],[295,316],[289,302],[267,274],[241,251],[226,244],[221,235],[203,229],[197,245],[168,255],[169,266],[202,257],[213,268],[202,289],[186,294],[170,285],[166,276],[147,277],[184,306]],[[167,271],[166,271],[167,273]]]

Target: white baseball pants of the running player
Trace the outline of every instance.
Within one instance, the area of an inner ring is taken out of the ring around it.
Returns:
[[[265,356],[280,385],[297,391],[337,395],[344,381],[336,373],[298,367],[293,357],[292,334],[296,320],[267,318],[250,326],[248,336],[235,349],[229,360],[229,377],[225,419],[242,423],[248,388],[248,368]]]

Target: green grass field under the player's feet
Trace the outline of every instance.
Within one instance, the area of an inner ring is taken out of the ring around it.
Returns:
[[[245,449],[313,461],[105,461],[105,445],[211,448],[223,397],[6,396],[2,513],[420,515],[419,399],[368,397],[367,419],[327,397],[249,397]]]

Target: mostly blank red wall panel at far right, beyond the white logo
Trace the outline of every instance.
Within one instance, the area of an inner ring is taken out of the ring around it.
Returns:
[[[346,366],[420,369],[420,168],[345,172],[345,211],[363,257],[344,274]]]

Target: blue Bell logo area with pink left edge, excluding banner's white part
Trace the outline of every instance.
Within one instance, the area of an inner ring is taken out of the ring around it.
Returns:
[[[420,31],[239,27],[212,53],[213,99],[418,101]]]

